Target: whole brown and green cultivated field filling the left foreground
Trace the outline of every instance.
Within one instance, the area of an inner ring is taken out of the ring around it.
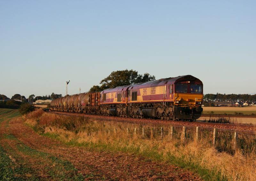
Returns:
[[[0,109],[0,180],[202,180],[147,156],[65,144],[24,119],[18,110]]]

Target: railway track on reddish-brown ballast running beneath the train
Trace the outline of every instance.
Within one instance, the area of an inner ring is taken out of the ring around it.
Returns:
[[[138,119],[138,118],[124,118],[124,117],[108,117],[108,116],[98,116],[98,115],[86,115],[86,114],[78,114],[78,113],[67,113],[67,112],[59,112],[53,111],[51,109],[44,109],[45,112],[58,114],[58,115],[66,115],[66,116],[83,116],[89,118],[95,118],[98,120],[104,121],[118,121],[118,122],[127,122],[134,124],[152,124],[152,125],[163,125],[163,126],[187,126],[187,127],[203,127],[203,128],[217,128],[222,130],[232,130],[232,131],[240,131],[250,134],[256,133],[255,125],[245,125],[245,124],[224,124],[224,123],[205,123],[205,122],[183,122],[183,121],[166,121],[160,119]]]

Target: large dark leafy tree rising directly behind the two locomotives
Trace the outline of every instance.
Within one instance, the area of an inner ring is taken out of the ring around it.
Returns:
[[[138,74],[137,71],[122,70],[111,72],[108,77],[100,81],[101,86],[93,86],[90,91],[102,91],[108,88],[126,86],[140,82],[147,82],[155,80],[155,76],[151,76],[149,73],[144,73],[144,75]]]

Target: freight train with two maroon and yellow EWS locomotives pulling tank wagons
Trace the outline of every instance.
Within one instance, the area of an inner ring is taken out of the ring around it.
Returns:
[[[203,83],[191,75],[68,95],[51,109],[102,116],[193,121],[203,111]]]

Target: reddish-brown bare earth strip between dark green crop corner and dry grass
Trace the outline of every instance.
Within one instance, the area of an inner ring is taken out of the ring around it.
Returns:
[[[31,168],[30,175],[36,174],[39,180],[79,180],[82,175],[85,180],[199,179],[188,170],[132,154],[67,146],[38,135],[21,118],[1,122],[0,145],[16,162]]]

